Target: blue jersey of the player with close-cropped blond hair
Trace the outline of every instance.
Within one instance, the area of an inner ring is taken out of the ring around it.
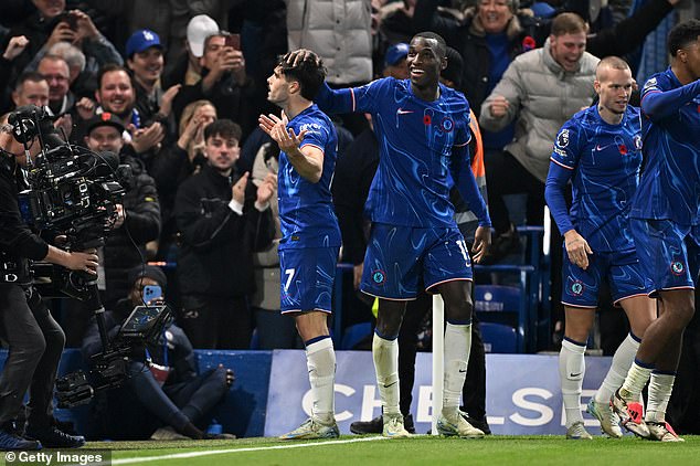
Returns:
[[[641,166],[640,126],[638,108],[628,106],[622,123],[609,125],[593,106],[575,114],[556,136],[551,161],[571,170],[569,216],[594,252],[634,247],[629,210]]]

